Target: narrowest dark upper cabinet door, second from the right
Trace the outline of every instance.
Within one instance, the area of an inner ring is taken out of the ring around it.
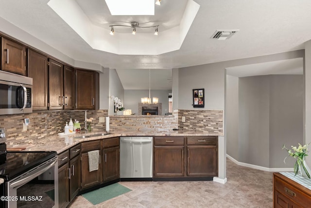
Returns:
[[[69,66],[64,66],[64,108],[66,110],[74,109],[74,69]]]

